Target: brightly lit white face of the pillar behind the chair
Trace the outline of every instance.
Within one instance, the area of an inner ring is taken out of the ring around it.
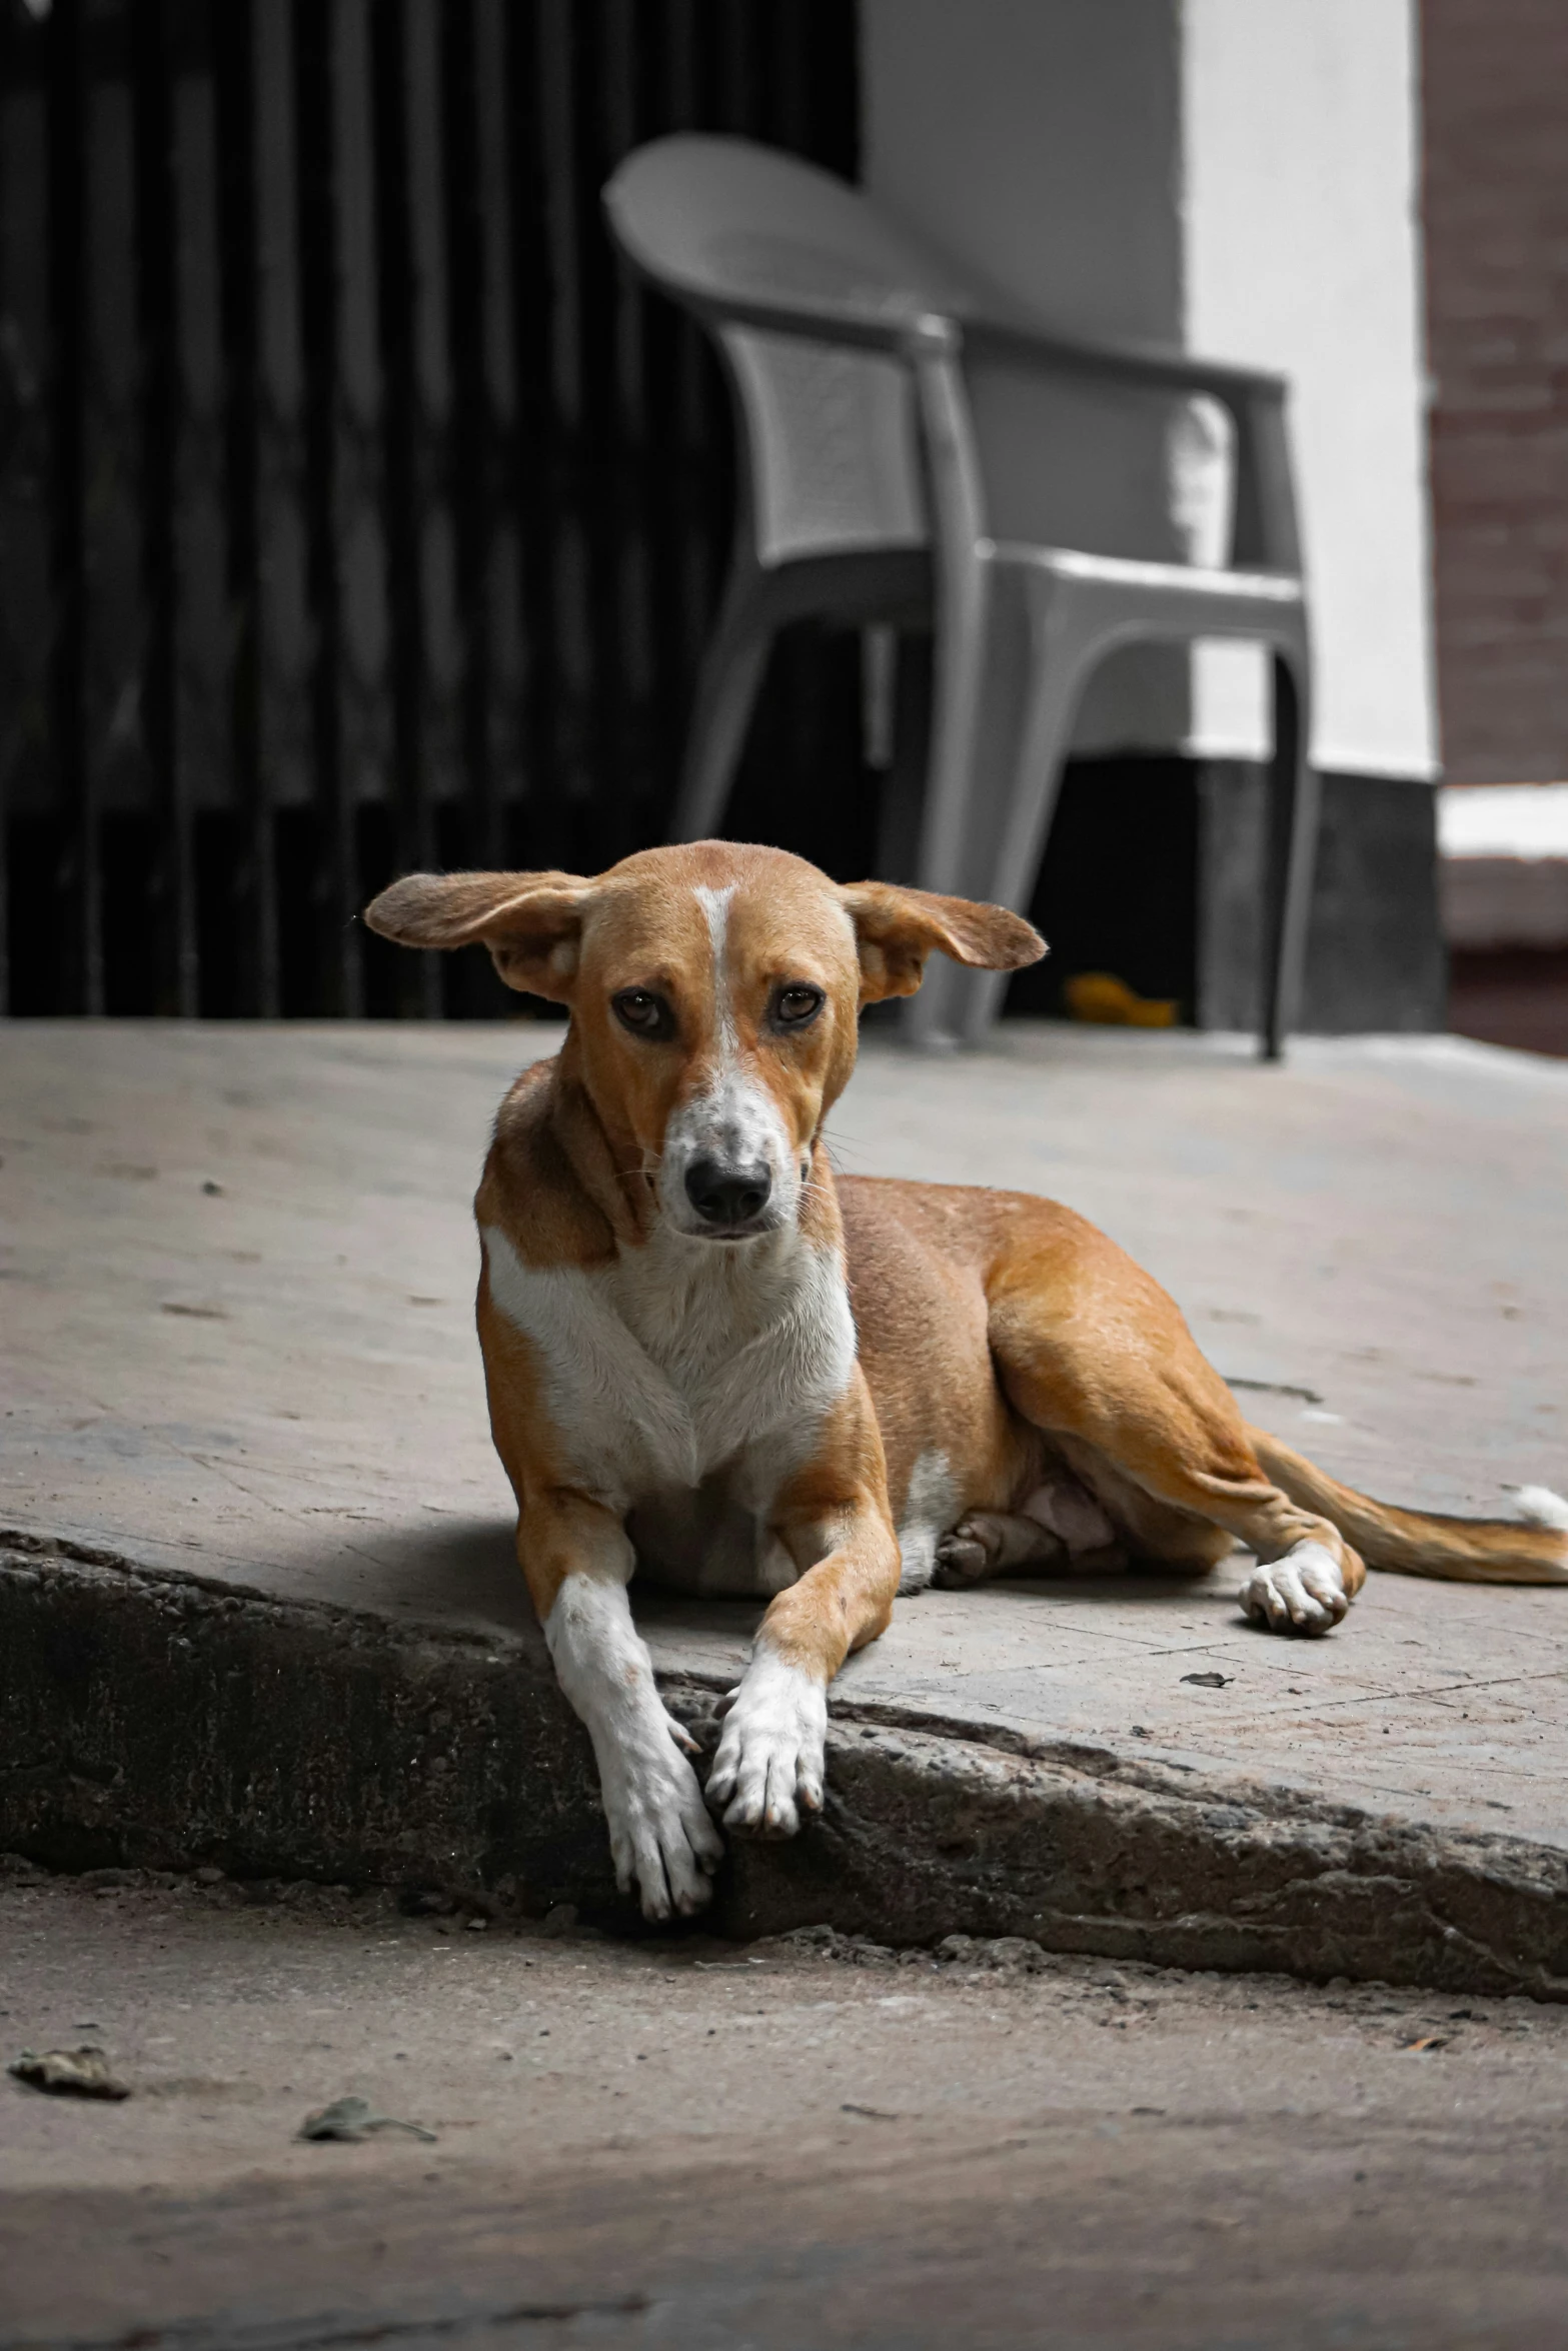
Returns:
[[[1415,9],[1182,0],[1180,24],[1185,341],[1293,381],[1314,757],[1432,776]],[[1204,649],[1194,741],[1258,734],[1255,656]]]

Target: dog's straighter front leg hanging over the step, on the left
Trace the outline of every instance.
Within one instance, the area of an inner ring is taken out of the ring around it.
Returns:
[[[682,1726],[665,1714],[625,1587],[635,1554],[625,1528],[576,1493],[529,1500],[517,1523],[534,1603],[559,1686],[588,1726],[623,1893],[637,1881],[649,1918],[698,1911],[724,1857]]]

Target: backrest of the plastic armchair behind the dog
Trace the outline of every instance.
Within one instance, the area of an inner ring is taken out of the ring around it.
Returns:
[[[658,139],[604,188],[635,266],[715,331],[745,426],[762,564],[929,541],[910,374],[835,343],[835,317],[917,320],[966,289],[863,195],[743,139]],[[823,341],[726,324],[778,301],[823,315]]]

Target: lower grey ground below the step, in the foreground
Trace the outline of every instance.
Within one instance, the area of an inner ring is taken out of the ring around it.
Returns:
[[[470,1914],[473,1916],[473,1914]],[[0,1871],[0,2346],[1537,2351],[1568,2012]],[[343,2095],[433,2139],[301,2142]]]

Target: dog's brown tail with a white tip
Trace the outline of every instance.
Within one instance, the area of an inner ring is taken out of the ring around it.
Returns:
[[[1568,1502],[1549,1486],[1519,1488],[1519,1519],[1443,1519],[1373,1502],[1267,1429],[1248,1434],[1274,1483],[1302,1509],[1331,1519],[1368,1568],[1453,1585],[1568,1585]]]

